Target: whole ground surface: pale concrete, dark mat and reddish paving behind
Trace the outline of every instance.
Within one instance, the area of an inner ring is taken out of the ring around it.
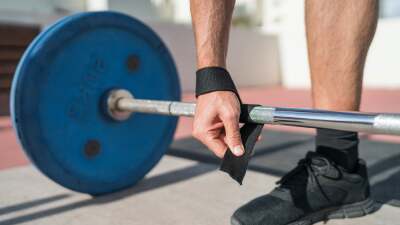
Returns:
[[[308,92],[301,90],[253,88],[241,93],[249,103],[310,106]],[[363,109],[399,112],[399,93],[367,91]],[[184,99],[193,100],[193,96]],[[257,144],[241,187],[219,172],[218,161],[188,137],[191,120],[182,119],[169,155],[144,180],[131,189],[92,198],[58,186],[30,166],[9,118],[0,117],[0,225],[229,224],[235,208],[270,191],[279,176],[312,149],[310,130],[268,128],[272,131],[266,130]],[[400,225],[398,142],[396,137],[363,135],[361,155],[369,163],[373,196],[381,208],[367,217],[329,221],[328,225]]]

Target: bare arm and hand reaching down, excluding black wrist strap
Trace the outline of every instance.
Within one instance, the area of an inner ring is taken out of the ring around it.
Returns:
[[[226,68],[226,55],[234,0],[191,0],[198,69]],[[224,75],[221,75],[224,76]],[[231,91],[213,91],[197,99],[193,136],[222,158],[229,147],[244,152],[239,133],[240,103]]]

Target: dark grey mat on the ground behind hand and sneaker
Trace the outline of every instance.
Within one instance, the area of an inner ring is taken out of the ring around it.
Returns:
[[[255,147],[255,155],[250,161],[249,169],[282,176],[292,169],[307,151],[313,150],[313,146],[312,135],[263,131],[263,139]],[[193,138],[175,141],[168,154],[219,164],[219,160]],[[400,207],[399,145],[362,140],[360,157],[367,161],[374,199],[382,204]]]

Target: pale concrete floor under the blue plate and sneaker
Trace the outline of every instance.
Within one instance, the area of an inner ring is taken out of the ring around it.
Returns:
[[[135,187],[92,198],[53,183],[32,166],[0,173],[0,224],[216,225],[270,191],[277,177],[248,171],[239,186],[212,164],[165,156]],[[331,220],[329,225],[398,225],[400,210],[383,205],[372,215]],[[320,223],[322,225],[323,223]]]

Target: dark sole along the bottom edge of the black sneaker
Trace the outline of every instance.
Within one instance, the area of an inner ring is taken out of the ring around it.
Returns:
[[[321,221],[328,221],[330,219],[345,219],[345,218],[356,218],[371,214],[379,209],[378,204],[372,199],[366,199],[361,202],[356,202],[340,207],[329,208],[314,212],[299,220],[291,222],[286,225],[312,225]],[[235,218],[231,218],[231,225],[244,225],[237,221]]]

